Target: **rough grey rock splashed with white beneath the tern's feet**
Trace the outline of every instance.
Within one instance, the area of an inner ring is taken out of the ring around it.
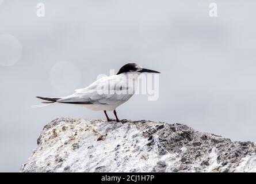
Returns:
[[[21,172],[256,172],[256,144],[183,124],[58,118]]]

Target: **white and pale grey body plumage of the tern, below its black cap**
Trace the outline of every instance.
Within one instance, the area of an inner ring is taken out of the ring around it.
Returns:
[[[66,104],[79,102],[79,105],[90,110],[112,111],[128,101],[135,93],[138,75],[133,76],[133,78],[128,78],[127,74],[105,76],[91,83],[88,87],[77,89],[74,94],[62,97],[56,102]],[[133,82],[135,87],[129,85]],[[128,94],[129,91],[133,91],[133,93]]]

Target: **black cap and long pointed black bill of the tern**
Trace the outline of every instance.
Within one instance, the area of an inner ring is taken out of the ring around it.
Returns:
[[[143,72],[160,73],[158,71],[143,68],[139,64],[136,64],[136,63],[128,63],[128,64],[125,64],[123,67],[120,68],[119,72],[117,72],[117,75],[125,74],[125,73],[141,74]]]

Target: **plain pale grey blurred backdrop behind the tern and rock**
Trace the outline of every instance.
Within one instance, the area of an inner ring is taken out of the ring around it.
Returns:
[[[36,16],[38,2],[45,17]],[[217,18],[208,15],[211,2]],[[68,105],[30,109],[40,104],[36,95],[67,95],[131,61],[161,71],[160,97],[132,97],[117,109],[120,118],[255,141],[255,7],[239,0],[1,0],[0,38],[14,40],[0,39],[0,171],[19,171],[54,118],[105,118]]]

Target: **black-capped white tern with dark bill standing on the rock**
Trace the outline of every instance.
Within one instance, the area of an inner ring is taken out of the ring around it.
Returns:
[[[42,103],[47,105],[74,104],[84,106],[89,110],[101,110],[107,121],[119,122],[116,108],[135,94],[138,77],[144,72],[160,73],[143,68],[136,63],[128,63],[121,67],[116,75],[104,76],[85,88],[75,90],[73,94],[66,97],[37,96],[36,98],[43,99]],[[113,111],[116,119],[110,119],[107,111]]]

